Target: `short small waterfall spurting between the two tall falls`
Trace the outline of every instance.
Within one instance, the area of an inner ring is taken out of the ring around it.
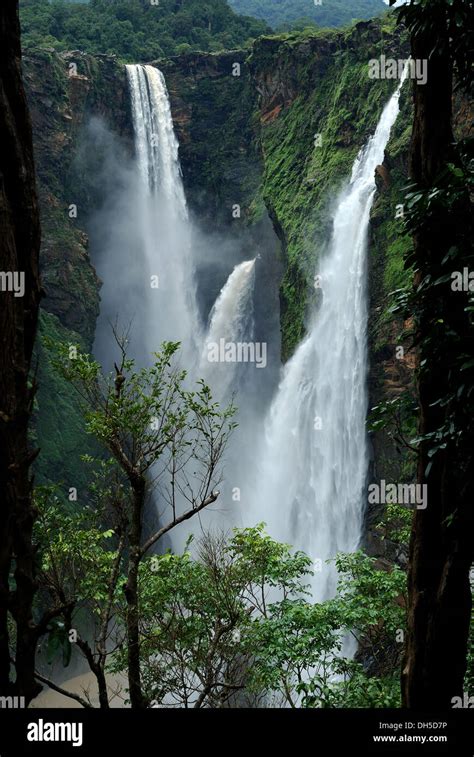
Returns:
[[[245,366],[232,362],[210,362],[210,350],[225,349],[253,337],[252,294],[255,281],[255,260],[236,265],[222,287],[209,316],[209,328],[201,354],[200,376],[210,384],[215,399],[229,400],[237,388],[238,377]]]

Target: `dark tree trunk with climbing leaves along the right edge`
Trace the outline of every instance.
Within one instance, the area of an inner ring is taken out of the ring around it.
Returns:
[[[418,482],[428,486],[428,507],[417,511],[411,538],[403,701],[449,708],[462,697],[474,557],[472,295],[451,286],[453,272],[474,263],[472,142],[456,143],[452,130],[453,79],[472,81],[472,2],[410,0],[399,13],[412,57],[428,62],[427,83],[413,87],[407,228],[414,247],[406,260],[415,270]]]

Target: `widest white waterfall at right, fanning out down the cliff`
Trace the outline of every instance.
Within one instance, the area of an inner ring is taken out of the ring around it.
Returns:
[[[286,365],[265,425],[252,522],[315,561],[313,598],[335,590],[325,561],[357,549],[368,454],[366,252],[375,168],[399,111],[402,83],[359,153],[333,217],[329,249],[316,271],[321,304]]]

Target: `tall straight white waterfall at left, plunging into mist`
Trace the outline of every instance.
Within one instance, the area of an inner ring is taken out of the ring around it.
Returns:
[[[128,65],[139,179],[135,224],[144,279],[141,317],[149,353],[164,339],[181,341],[188,367],[202,339],[190,224],[165,80],[153,66]]]

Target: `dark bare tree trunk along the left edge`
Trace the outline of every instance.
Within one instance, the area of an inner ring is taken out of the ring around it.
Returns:
[[[17,624],[17,675],[12,690],[29,702],[41,690],[34,679],[34,512],[27,441],[33,394],[28,374],[40,300],[40,226],[20,59],[18,3],[4,0],[0,7],[0,271],[16,274],[19,281],[24,276],[24,294],[5,291],[5,284],[0,291],[0,693],[11,688],[10,609]],[[13,559],[16,592],[11,596],[8,576]]]

